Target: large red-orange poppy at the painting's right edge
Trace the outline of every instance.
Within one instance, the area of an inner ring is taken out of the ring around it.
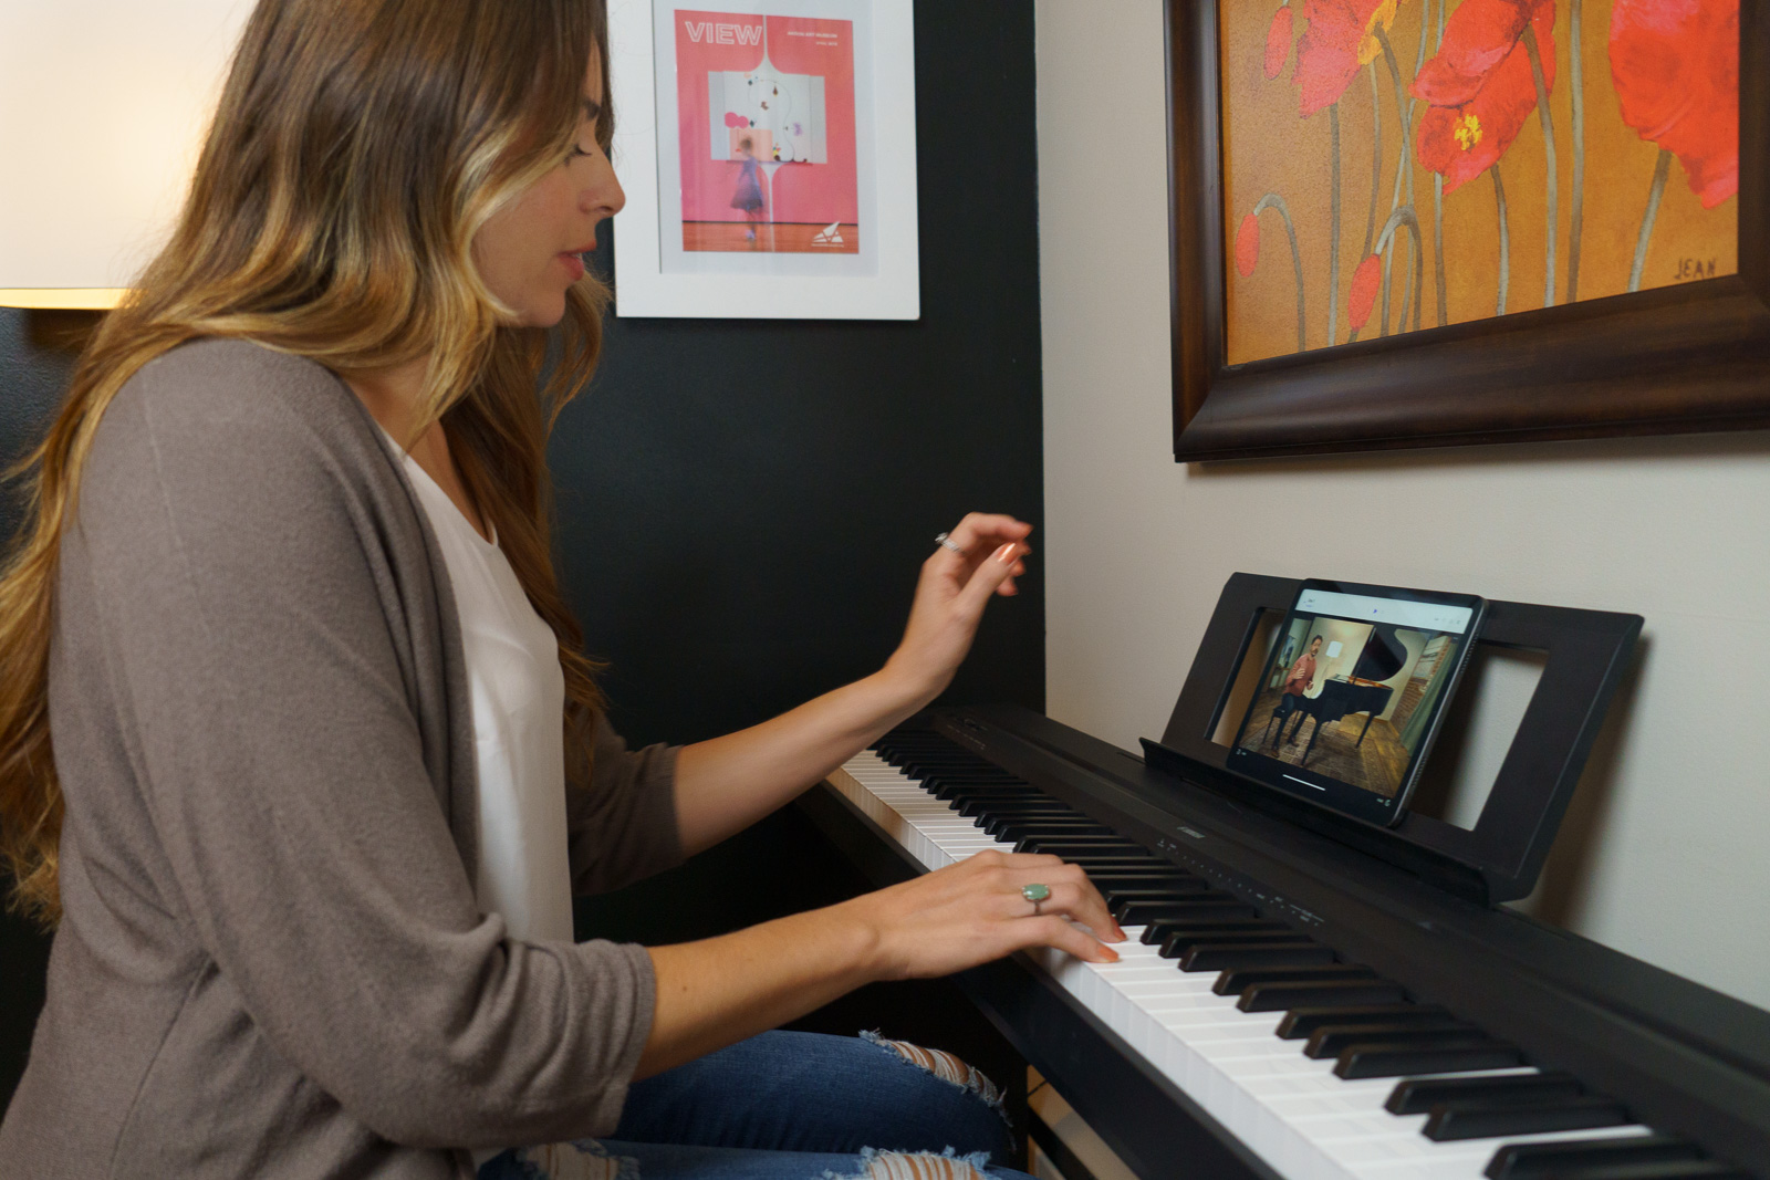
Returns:
[[[1740,0],[1616,0],[1611,80],[1623,122],[1678,154],[1703,209],[1740,191]]]

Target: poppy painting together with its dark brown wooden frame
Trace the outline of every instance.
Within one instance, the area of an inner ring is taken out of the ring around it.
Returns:
[[[1175,458],[1770,426],[1766,0],[1168,0]]]

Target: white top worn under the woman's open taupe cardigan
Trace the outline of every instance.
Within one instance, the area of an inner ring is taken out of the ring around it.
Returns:
[[[405,474],[442,547],[460,614],[480,768],[480,909],[501,915],[512,938],[572,941],[559,640],[496,534],[481,538],[411,455]]]

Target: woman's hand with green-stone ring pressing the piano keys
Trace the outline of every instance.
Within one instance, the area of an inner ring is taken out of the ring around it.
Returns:
[[[1028,885],[1050,897],[1034,904],[1021,893]],[[1027,946],[1113,962],[1119,952],[1103,939],[1124,941],[1081,869],[1035,853],[977,853],[843,908],[871,934],[873,978],[950,975]]]

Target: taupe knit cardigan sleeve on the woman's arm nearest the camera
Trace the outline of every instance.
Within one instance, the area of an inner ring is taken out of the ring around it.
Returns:
[[[274,1049],[382,1138],[611,1132],[651,1026],[650,955],[517,941],[478,911],[423,761],[407,621],[388,614],[412,571],[377,552],[359,460],[299,398],[354,407],[173,357],[96,432],[60,587],[103,630],[158,904]]]

